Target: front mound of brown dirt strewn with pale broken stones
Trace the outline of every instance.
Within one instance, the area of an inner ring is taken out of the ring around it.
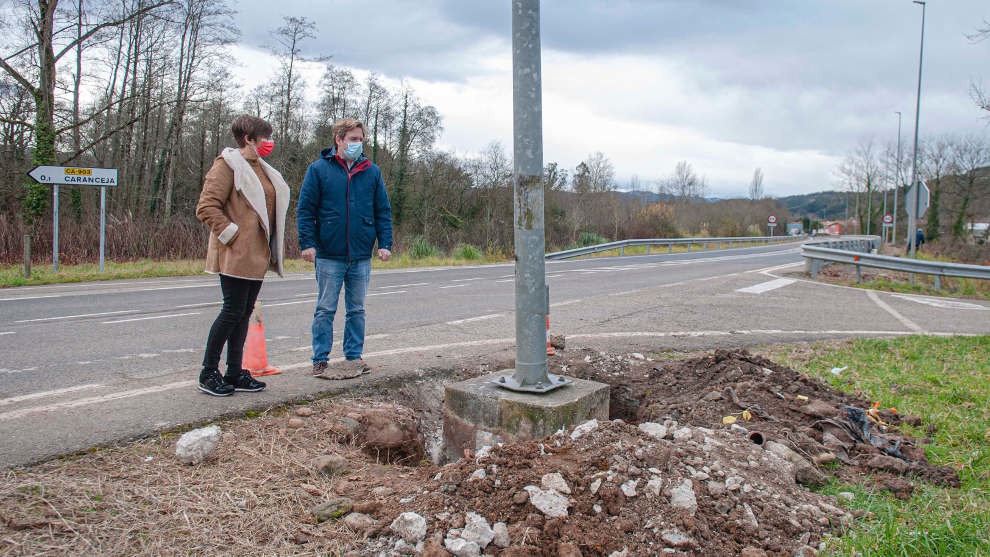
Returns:
[[[833,497],[777,473],[787,463],[740,434],[653,426],[589,422],[583,435],[495,448],[443,467],[418,494],[384,501],[380,524],[416,512],[432,546],[449,548],[448,540],[469,538],[466,515],[476,513],[505,523],[514,546],[489,545],[488,554],[556,556],[573,546],[575,555],[738,555],[747,547],[793,555],[851,519]],[[544,499],[554,497],[559,508],[547,510]]]

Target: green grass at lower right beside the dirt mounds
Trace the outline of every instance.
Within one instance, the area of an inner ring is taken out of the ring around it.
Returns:
[[[873,514],[830,542],[827,555],[990,555],[990,336],[862,339],[768,352],[833,387],[934,424],[928,459],[952,466],[962,480],[958,489],[912,480],[916,491],[907,501],[874,490],[866,479],[853,485],[833,481],[822,491],[851,491],[855,500],[842,504]],[[842,366],[849,367],[840,377],[827,371]],[[903,430],[929,436],[910,426]]]

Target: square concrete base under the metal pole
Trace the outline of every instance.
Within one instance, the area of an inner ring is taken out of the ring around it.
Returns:
[[[502,370],[445,388],[443,435],[448,459],[496,442],[541,439],[592,418],[608,420],[608,385],[568,378],[565,387],[533,394],[502,389],[493,382],[514,373]]]

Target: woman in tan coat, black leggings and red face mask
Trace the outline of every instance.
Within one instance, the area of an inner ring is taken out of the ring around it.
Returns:
[[[274,148],[272,126],[238,116],[231,132],[239,149],[226,148],[206,173],[196,217],[210,227],[206,272],[220,275],[223,307],[210,328],[199,389],[214,396],[260,391],[265,384],[241,368],[244,339],[265,273],[282,276],[289,186],[261,160]],[[227,373],[220,352],[227,345]]]

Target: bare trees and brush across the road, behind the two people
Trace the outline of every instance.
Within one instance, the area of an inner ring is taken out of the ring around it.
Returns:
[[[260,85],[246,90],[230,72],[236,63],[230,47],[240,36],[227,0],[25,0],[10,10],[13,17],[0,22],[5,262],[18,260],[25,235],[34,238],[38,257],[50,253],[51,190],[25,177],[34,165],[119,169],[120,185],[108,191],[110,258],[201,256],[207,230],[193,209],[214,157],[233,146],[231,120],[244,112],[272,123],[271,162],[296,188],[308,164],[332,145],[334,121],[349,116],[365,122],[365,154],[382,168],[399,249],[417,238],[444,249],[471,244],[512,252],[512,161],[506,149],[498,142],[471,156],[438,149],[443,119],[436,107],[406,83],[390,86],[375,73],[359,78],[334,65],[329,53],[305,56],[319,33],[305,17],[286,17],[271,30],[266,48],[276,65]],[[315,84],[317,97],[309,100],[311,84],[300,68],[314,62],[324,72]],[[764,234],[767,214],[782,221],[789,214],[763,197],[759,169],[753,180],[751,199],[709,202],[705,178],[687,161],[669,176],[634,177],[621,185],[604,153],[589,154],[573,169],[548,162],[548,247]],[[70,261],[91,258],[98,194],[62,190],[61,245]],[[294,221],[287,232],[294,250]]]

